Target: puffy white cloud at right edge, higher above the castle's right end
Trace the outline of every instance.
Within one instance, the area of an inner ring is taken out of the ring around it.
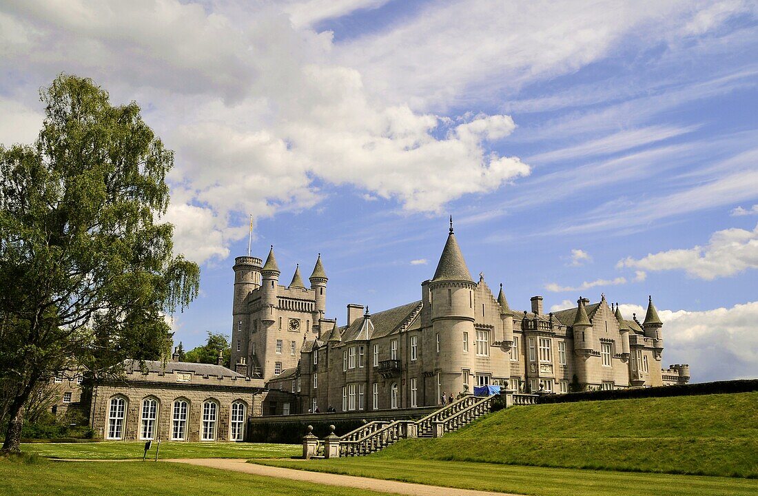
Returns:
[[[706,280],[758,269],[758,224],[752,231],[725,229],[714,232],[704,247],[660,251],[639,260],[627,257],[619,260],[616,267],[684,270],[688,276]]]

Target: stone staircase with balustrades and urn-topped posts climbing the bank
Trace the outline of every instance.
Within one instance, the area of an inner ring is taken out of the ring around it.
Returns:
[[[338,436],[334,426],[331,434],[323,441],[312,435],[313,428],[302,439],[302,454],[310,458],[360,457],[376,453],[404,438],[440,438],[446,432],[454,432],[492,410],[498,395],[466,395],[453,403],[441,407],[421,420],[377,420],[358,429]],[[503,391],[500,397],[506,407],[513,405],[537,404],[537,395],[517,395],[514,391]]]

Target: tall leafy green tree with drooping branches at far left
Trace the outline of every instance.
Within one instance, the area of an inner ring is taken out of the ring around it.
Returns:
[[[113,106],[89,79],[40,92],[34,145],[0,145],[0,380],[13,391],[4,449],[23,404],[75,360],[95,377],[168,348],[164,315],[199,289],[161,223],[174,154],[139,106]]]

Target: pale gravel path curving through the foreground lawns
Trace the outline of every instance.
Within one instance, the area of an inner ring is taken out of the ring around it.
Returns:
[[[308,472],[305,470],[284,469],[278,466],[256,465],[247,463],[246,459],[236,458],[182,458],[168,459],[164,462],[189,463],[190,465],[208,466],[214,469],[233,470],[252,473],[256,476],[277,477],[324,485],[341,485],[349,488],[368,489],[371,491],[412,496],[515,496],[502,492],[473,491],[471,489],[445,488],[437,485],[411,484],[409,482],[369,479],[368,477],[342,476],[334,473]]]

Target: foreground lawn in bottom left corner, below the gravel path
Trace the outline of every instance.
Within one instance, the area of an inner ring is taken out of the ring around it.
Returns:
[[[161,443],[162,444],[162,443]],[[161,449],[163,449],[161,447]],[[252,476],[179,463],[54,462],[17,463],[0,459],[0,494],[5,496],[195,496],[208,494],[271,494],[359,496],[385,494],[311,482]]]

